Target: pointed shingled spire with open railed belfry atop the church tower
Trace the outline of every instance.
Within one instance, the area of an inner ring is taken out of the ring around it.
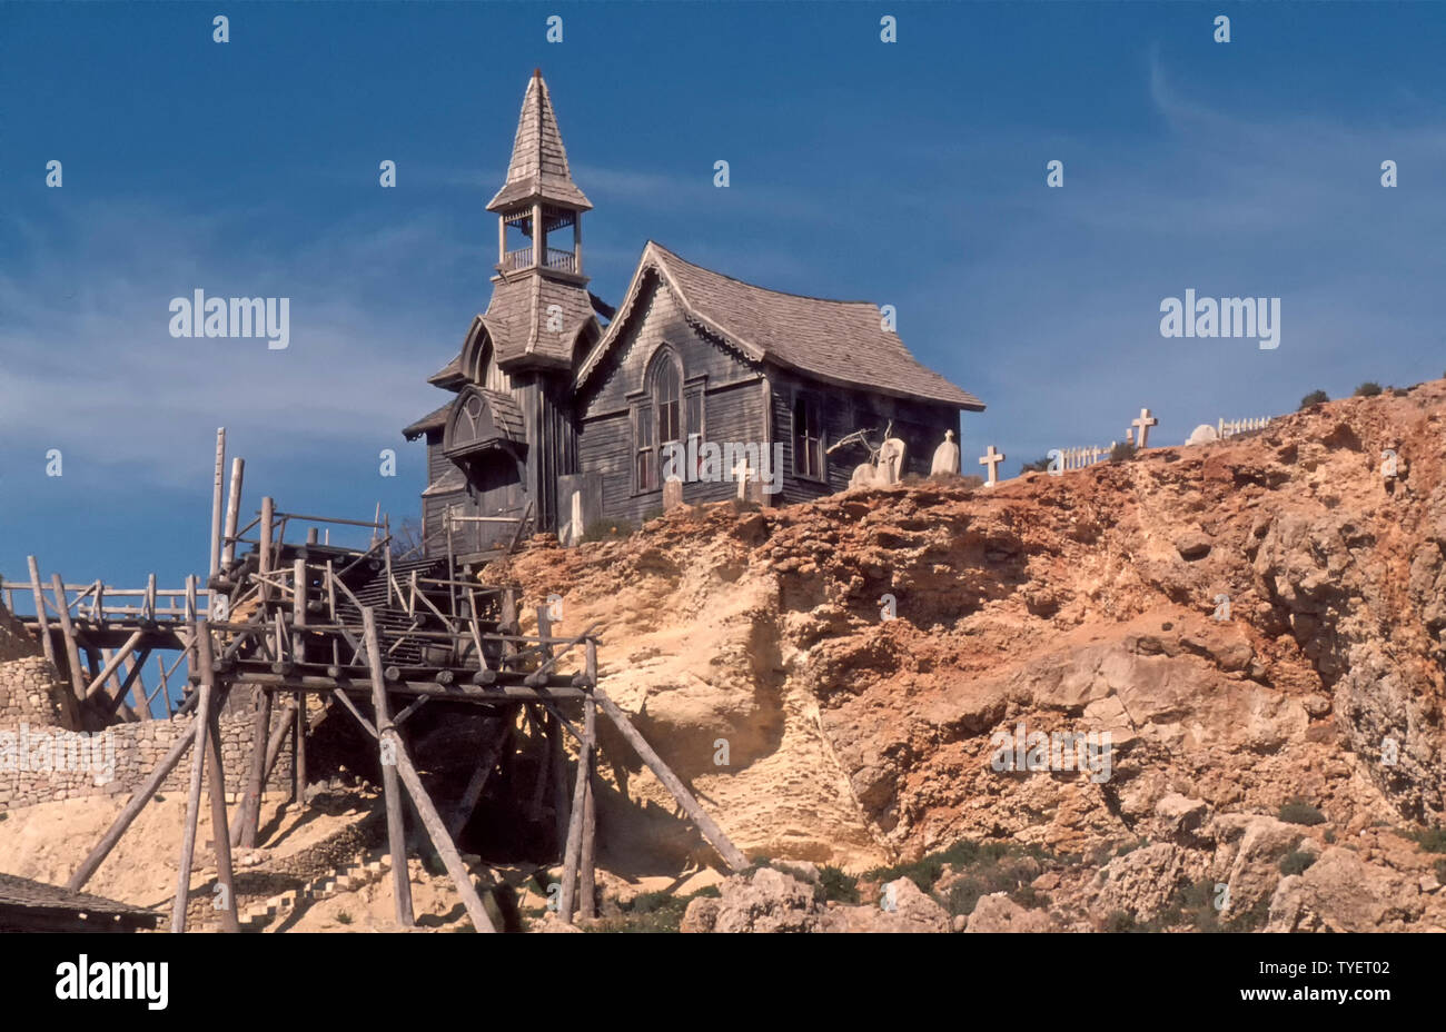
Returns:
[[[536,272],[586,283],[583,276],[583,212],[593,207],[573,182],[567,149],[557,127],[552,98],[541,69],[534,69],[522,97],[518,133],[512,140],[508,179],[487,204],[497,214],[497,276]],[[571,240],[554,246],[571,228]],[[508,231],[526,238],[509,243]],[[552,237],[552,241],[548,237]]]

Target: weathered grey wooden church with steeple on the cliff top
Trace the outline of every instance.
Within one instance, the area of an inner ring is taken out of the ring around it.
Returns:
[[[492,299],[428,380],[453,397],[402,431],[427,438],[428,554],[448,548],[448,512],[467,517],[451,522],[458,555],[506,542],[525,515],[529,532],[641,522],[661,512],[664,478],[684,454],[684,502],[736,497],[735,470],[704,461],[709,444],[753,445],[769,467],[781,460],[749,484],[765,504],[847,487],[868,450],[829,448],[857,429],[878,444],[892,423],[907,445],[901,473],[927,474],[960,412],[983,409],[924,369],[876,305],[753,286],[654,241],[613,309],[587,289],[591,207],[534,72],[506,182],[487,205],[497,215]]]

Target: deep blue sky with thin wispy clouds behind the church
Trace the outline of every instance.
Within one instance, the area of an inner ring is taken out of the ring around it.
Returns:
[[[1442,376],[1442,52],[1439,3],[0,3],[0,574],[202,571],[220,425],[249,509],[415,513],[534,66],[597,293],[651,237],[892,304],[989,405],[966,471]],[[1280,296],[1281,345],[1161,338],[1186,288]],[[172,338],[195,289],[291,298],[291,347]]]

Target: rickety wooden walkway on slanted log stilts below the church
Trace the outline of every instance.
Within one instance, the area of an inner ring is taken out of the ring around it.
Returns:
[[[30,559],[27,590],[35,613],[25,617],[25,624],[42,642],[46,656],[62,658],[69,669],[72,715],[108,721],[120,710],[121,718],[139,720],[142,714],[150,715],[158,694],[165,700],[168,717],[194,711],[188,730],[136,789],[68,887],[78,890],[90,880],[194,747],[171,931],[185,931],[187,925],[202,781],[210,783],[211,821],[218,830],[217,882],[226,886],[223,898],[233,900],[223,909],[221,924],[226,931],[239,931],[230,851],[237,844],[256,844],[262,789],[286,737],[292,741],[296,799],[304,802],[307,737],[312,726],[307,718],[307,697],[312,694],[321,697],[328,713],[350,714],[376,743],[401,925],[414,924],[406,863],[395,860],[406,856],[405,791],[473,925],[477,931],[495,931],[454,840],[471,817],[522,714],[547,743],[548,763],[538,773],[532,801],[535,805],[551,788],[557,840],[562,844],[558,912],[564,921],[578,912],[593,916],[599,711],[668,788],[724,863],[735,870],[746,866],[743,854],[703,812],[687,786],[599,689],[599,639],[593,627],[560,637],[552,633],[548,610],[538,609],[536,633],[521,633],[516,585],[482,584],[470,567],[458,568],[451,555],[393,558],[389,522],[380,516],[369,523],[285,513],[266,497],[256,519],[239,526],[243,477],[239,458],[223,529],[223,442],[224,437],[217,447],[211,575],[205,587],[191,577],[182,590],[161,591],[150,577],[145,588],[126,591],[100,582],[67,585],[54,575],[46,598],[38,562]],[[330,532],[322,536],[320,525],[370,529],[370,545],[331,545]],[[305,536],[299,536],[299,528],[307,528]],[[292,541],[286,539],[288,530]],[[253,538],[246,536],[253,532]],[[241,545],[247,551],[239,554]],[[7,585],[3,591],[7,601],[16,601],[26,588]],[[146,694],[140,668],[153,650],[175,650],[176,658],[169,666],[161,663],[161,684]],[[88,669],[81,665],[81,653]],[[185,694],[172,711],[169,678],[182,662]],[[59,662],[56,668],[65,669]],[[217,717],[237,688],[253,695],[254,728],[244,789],[228,812]],[[127,691],[132,707],[123,701]],[[275,720],[278,700],[283,708]],[[445,815],[424,788],[398,733],[424,705],[482,707],[493,717],[477,743],[473,775]],[[393,707],[401,708],[393,713]],[[571,789],[565,734],[577,743]],[[211,773],[205,778],[208,766]]]

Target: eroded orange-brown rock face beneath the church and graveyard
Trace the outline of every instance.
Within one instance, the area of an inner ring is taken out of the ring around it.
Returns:
[[[992,491],[684,506],[512,572],[529,606],[564,595],[564,630],[600,623],[604,688],[745,851],[857,870],[960,838],[1151,837],[1264,908],[1300,847],[1259,824],[1287,799],[1342,847],[1446,812],[1443,454],[1433,382]],[[1108,733],[1108,765],[1001,767],[1017,733]],[[609,776],[672,820],[606,734]],[[1160,890],[1126,869],[1148,912]],[[1064,886],[1079,921],[1087,886]]]

